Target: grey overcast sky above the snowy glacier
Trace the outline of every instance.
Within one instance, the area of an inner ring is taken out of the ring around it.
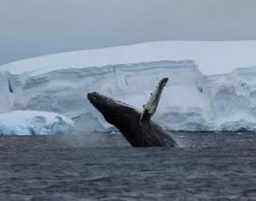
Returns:
[[[0,64],[155,40],[256,39],[255,0],[0,0]]]

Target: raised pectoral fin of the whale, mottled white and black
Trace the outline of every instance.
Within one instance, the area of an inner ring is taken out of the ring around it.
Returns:
[[[144,111],[141,116],[141,123],[149,122],[150,118],[154,115],[158,106],[162,91],[164,90],[165,84],[168,78],[161,79],[158,83],[155,91],[151,94],[149,101],[144,105]]]

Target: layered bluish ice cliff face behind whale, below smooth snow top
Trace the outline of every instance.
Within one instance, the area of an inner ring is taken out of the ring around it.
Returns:
[[[139,110],[168,77],[154,120],[168,130],[256,129],[256,68],[206,76],[193,60],[162,60],[76,69],[0,71],[0,112],[54,111],[78,132],[112,130],[87,100],[98,91]]]

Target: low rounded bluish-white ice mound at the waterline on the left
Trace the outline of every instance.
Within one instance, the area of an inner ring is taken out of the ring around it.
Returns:
[[[1,135],[62,134],[74,132],[69,118],[46,111],[10,111],[0,114]]]

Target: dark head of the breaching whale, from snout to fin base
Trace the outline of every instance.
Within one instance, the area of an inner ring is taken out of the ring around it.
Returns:
[[[101,112],[104,119],[120,131],[140,121],[141,113],[121,101],[113,100],[97,92],[88,93],[87,97],[91,104]]]

